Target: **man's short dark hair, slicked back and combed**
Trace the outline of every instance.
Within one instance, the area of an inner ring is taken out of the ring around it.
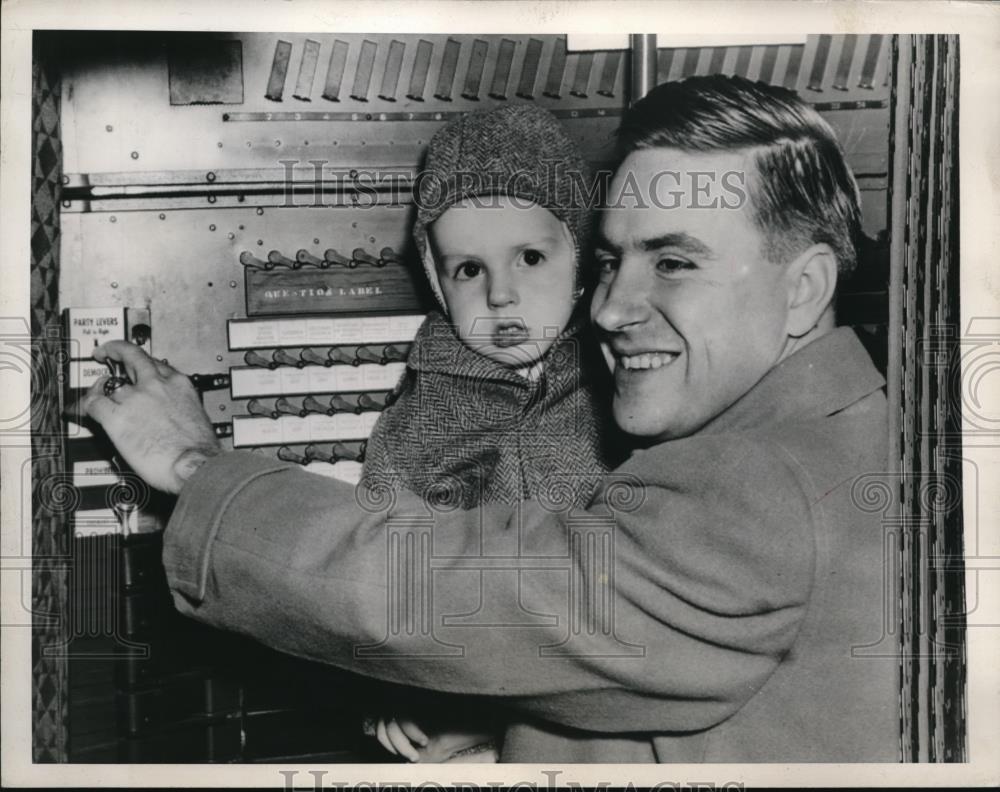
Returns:
[[[624,116],[622,158],[638,149],[752,154],[750,210],[764,253],[785,262],[825,242],[843,277],[861,234],[858,187],[830,125],[793,91],[742,77],[689,77],[656,86]]]

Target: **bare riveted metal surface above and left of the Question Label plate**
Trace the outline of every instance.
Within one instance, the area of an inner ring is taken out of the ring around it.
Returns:
[[[245,316],[242,251],[261,257],[271,249],[405,251],[411,211],[300,206],[68,214],[61,299],[148,306],[158,355],[189,373],[224,371],[243,364],[227,337],[227,321]],[[206,393],[205,404],[214,421],[243,412],[226,391]]]

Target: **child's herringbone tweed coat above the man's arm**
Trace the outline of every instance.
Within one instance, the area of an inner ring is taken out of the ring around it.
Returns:
[[[529,379],[470,350],[432,312],[368,439],[362,484],[465,509],[539,498],[585,506],[614,431],[594,348],[576,322]]]

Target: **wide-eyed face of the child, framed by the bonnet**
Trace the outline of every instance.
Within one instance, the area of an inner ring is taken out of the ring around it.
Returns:
[[[530,365],[573,312],[573,239],[536,204],[482,203],[456,204],[429,229],[441,291],[466,346],[506,366]]]

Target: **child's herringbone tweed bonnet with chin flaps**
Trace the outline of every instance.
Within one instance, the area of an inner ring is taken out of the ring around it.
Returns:
[[[507,195],[548,209],[573,237],[579,284],[590,226],[590,187],[590,169],[579,146],[552,113],[536,105],[476,110],[439,129],[414,185],[413,239],[441,307],[448,310],[427,229],[451,206],[473,197]]]

